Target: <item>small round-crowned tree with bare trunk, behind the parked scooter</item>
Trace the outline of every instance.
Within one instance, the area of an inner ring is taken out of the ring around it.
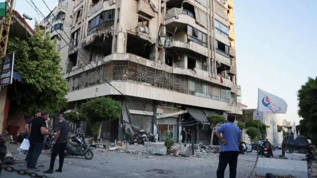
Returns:
[[[102,122],[107,120],[118,119],[122,110],[121,103],[115,101],[110,97],[96,97],[79,107],[79,113],[90,124],[93,134],[98,134],[97,139],[100,138]]]

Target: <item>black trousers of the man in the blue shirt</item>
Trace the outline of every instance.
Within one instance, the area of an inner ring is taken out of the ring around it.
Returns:
[[[217,178],[224,178],[224,171],[229,164],[229,178],[236,178],[239,151],[223,151],[219,154]]]

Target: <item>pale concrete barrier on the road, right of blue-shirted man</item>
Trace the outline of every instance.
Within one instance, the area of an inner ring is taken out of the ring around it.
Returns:
[[[280,176],[293,176],[296,178],[308,178],[307,161],[259,158],[255,167],[257,176],[265,176],[267,173]]]

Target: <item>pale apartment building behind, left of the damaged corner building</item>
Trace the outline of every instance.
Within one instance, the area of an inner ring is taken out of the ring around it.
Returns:
[[[70,29],[74,9],[74,0],[59,0],[58,5],[40,23],[40,27],[49,34],[51,40],[56,39],[56,50],[61,58],[62,73],[66,72],[68,48],[70,47]],[[53,27],[52,27],[53,26]],[[55,29],[55,30],[54,30]]]

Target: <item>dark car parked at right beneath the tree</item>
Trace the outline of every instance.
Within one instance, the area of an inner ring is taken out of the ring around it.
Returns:
[[[285,150],[289,150],[293,153],[312,153],[311,146],[307,138],[303,135],[297,135],[294,140],[294,135],[287,135],[283,139],[282,154],[285,155]]]

